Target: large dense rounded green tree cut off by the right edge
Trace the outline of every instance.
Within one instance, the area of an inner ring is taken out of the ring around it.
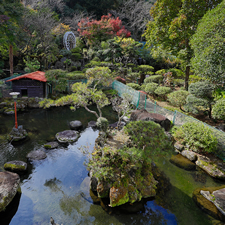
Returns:
[[[225,1],[209,10],[200,20],[191,40],[192,66],[196,74],[221,84],[225,64]]]

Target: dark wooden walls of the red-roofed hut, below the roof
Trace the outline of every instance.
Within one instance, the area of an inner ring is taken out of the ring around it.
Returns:
[[[12,81],[13,91],[19,92],[20,97],[45,97],[45,82],[31,79]]]

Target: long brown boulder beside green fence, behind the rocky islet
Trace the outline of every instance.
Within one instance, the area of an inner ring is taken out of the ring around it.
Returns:
[[[172,124],[169,119],[157,113],[149,113],[146,109],[137,109],[131,113],[130,121],[153,121],[160,124],[165,131],[170,130]]]

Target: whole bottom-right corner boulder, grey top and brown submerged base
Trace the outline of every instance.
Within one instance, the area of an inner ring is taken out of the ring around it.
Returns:
[[[225,222],[224,188],[224,185],[221,187],[197,188],[192,194],[193,200],[203,211],[223,222]],[[216,194],[216,196],[213,193]],[[217,207],[215,203],[219,204],[219,207]]]

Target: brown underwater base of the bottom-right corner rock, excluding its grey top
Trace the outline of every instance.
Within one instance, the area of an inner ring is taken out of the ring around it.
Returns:
[[[220,187],[197,188],[194,190],[192,198],[196,202],[196,204],[207,214],[221,221],[225,221],[225,215],[223,215],[211,201],[206,199],[200,193],[201,190],[209,191],[210,193],[212,193],[213,191],[219,190],[221,188],[225,188],[225,185]]]

